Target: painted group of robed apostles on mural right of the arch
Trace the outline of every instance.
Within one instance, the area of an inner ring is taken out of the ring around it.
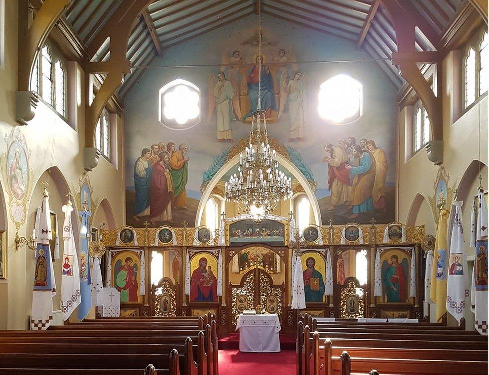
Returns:
[[[355,137],[339,139],[324,147],[328,164],[329,205],[326,212],[349,211],[356,219],[362,214],[386,213],[387,157],[375,141]]]

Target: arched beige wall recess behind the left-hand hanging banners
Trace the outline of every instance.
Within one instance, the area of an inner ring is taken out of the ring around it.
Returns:
[[[52,166],[46,169],[35,181],[34,188],[32,190],[31,197],[29,199],[29,206],[26,216],[26,234],[29,237],[32,234],[32,230],[34,229],[35,221],[36,221],[36,211],[39,207],[41,207],[41,203],[43,201],[43,181],[48,183],[47,189],[49,193],[49,209],[51,213],[56,215],[56,221],[58,222],[58,230],[59,233],[59,243],[60,243],[60,255],[63,254],[63,239],[61,236],[61,230],[63,228],[64,221],[64,213],[62,211],[62,206],[67,202],[67,194],[70,192],[73,197],[76,197],[76,192],[70,189],[70,186],[66,182],[66,179],[62,173],[62,171],[57,166]],[[50,215],[51,217],[51,215]],[[54,217],[52,217],[54,220]],[[77,209],[74,207],[74,211],[72,212],[72,226],[73,226],[73,234],[75,236],[75,246],[77,249],[77,253],[79,253],[79,217],[77,214]],[[53,231],[56,230],[56,227],[53,228]],[[53,251],[52,249],[51,251]],[[33,251],[26,250],[26,248],[22,248],[22,251],[26,252],[26,283],[25,283],[25,301],[26,301],[26,313],[29,315],[32,303],[32,283],[33,283],[33,275],[34,275],[34,267],[35,267],[35,257]],[[59,290],[61,287],[61,261],[56,259],[53,263],[54,274],[56,280],[56,286]],[[61,300],[61,293],[58,292],[56,296],[53,298],[53,308],[54,310],[59,310]],[[27,316],[26,316],[27,318]],[[56,317],[55,317],[56,319]]]

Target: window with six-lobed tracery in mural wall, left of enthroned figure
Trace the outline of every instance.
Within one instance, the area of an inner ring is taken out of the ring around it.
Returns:
[[[169,129],[189,129],[200,122],[200,90],[191,82],[176,79],[160,89],[159,120]]]

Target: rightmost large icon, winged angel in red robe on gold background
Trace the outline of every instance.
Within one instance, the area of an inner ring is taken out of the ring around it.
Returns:
[[[390,256],[389,256],[390,255]],[[409,260],[399,253],[382,256],[382,286],[384,302],[407,302],[407,283],[409,277]]]

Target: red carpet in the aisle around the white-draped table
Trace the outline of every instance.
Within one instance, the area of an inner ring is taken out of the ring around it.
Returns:
[[[295,338],[280,335],[280,353],[241,353],[239,334],[219,339],[220,375],[295,374]]]

